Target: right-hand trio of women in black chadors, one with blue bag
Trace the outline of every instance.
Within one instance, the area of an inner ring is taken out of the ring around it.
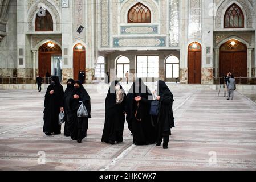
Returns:
[[[153,96],[141,78],[137,79],[127,95],[118,81],[113,81],[105,100],[105,124],[101,142],[114,144],[123,141],[125,115],[133,144],[156,143],[168,148],[170,129],[174,127],[173,94],[164,81],[158,81],[155,90],[159,100],[159,114],[149,114]]]

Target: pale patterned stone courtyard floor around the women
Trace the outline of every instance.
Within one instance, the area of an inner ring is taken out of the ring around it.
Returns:
[[[130,85],[124,85],[128,90]],[[149,85],[150,86],[150,85]],[[42,132],[43,98],[36,90],[0,90],[1,170],[255,170],[254,91],[172,89],[174,117],[169,148],[134,146],[125,124],[124,142],[101,143],[107,85],[86,85],[92,119],[82,143]],[[62,132],[63,132],[62,126]],[[44,162],[45,155],[45,164]]]

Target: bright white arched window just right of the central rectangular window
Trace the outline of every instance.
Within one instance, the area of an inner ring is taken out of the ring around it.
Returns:
[[[166,78],[180,77],[180,60],[176,56],[169,56],[165,62]]]

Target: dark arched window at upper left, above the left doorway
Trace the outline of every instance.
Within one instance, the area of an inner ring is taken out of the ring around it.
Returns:
[[[35,31],[53,31],[53,21],[51,14],[45,10],[45,14],[36,14]]]

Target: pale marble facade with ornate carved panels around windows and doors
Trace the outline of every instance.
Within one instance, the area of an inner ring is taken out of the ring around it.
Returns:
[[[36,51],[39,43],[52,40],[62,47],[65,62],[63,70],[68,70],[68,75],[73,68],[73,47],[77,43],[83,44],[86,47],[86,69],[89,77],[94,75],[98,54],[108,55],[113,51],[124,50],[177,50],[180,52],[182,82],[185,83],[188,45],[196,41],[202,46],[202,80],[209,83],[209,77],[212,77],[218,61],[216,39],[234,35],[239,35],[238,38],[246,41],[253,50],[249,75],[255,76],[256,0],[70,0],[69,7],[61,7],[60,0],[19,0],[16,7],[15,2],[10,2],[8,35],[0,42],[0,68],[18,68],[18,76],[30,76],[31,69],[34,71],[38,68]],[[151,23],[127,23],[128,10],[137,2],[151,10]],[[236,32],[222,28],[222,16],[230,3],[234,2],[241,6],[246,15],[246,27]],[[33,12],[36,12],[38,3],[44,3],[52,13],[54,32],[50,34],[34,32]],[[16,21],[18,23],[11,23]],[[78,34],[76,30],[80,24],[84,30]],[[18,55],[19,48],[23,49],[22,56]],[[67,54],[64,54],[64,49]],[[35,51],[35,60],[32,51]],[[19,58],[23,59],[22,65],[18,64]],[[215,69],[217,72],[218,68]],[[2,74],[3,72],[10,75],[10,70],[2,71]]]

